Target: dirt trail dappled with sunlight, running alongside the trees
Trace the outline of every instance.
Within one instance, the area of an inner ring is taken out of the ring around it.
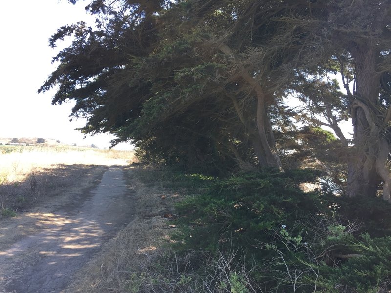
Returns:
[[[46,217],[44,229],[0,248],[0,293],[62,292],[75,273],[134,217],[123,167]]]

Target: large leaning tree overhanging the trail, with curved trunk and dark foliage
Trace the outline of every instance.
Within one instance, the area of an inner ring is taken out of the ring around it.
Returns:
[[[189,142],[189,148],[198,148],[193,155],[202,152],[199,148],[204,155],[210,152],[209,144],[242,163],[253,149],[261,167],[282,170],[269,117],[274,93],[259,65],[245,64],[254,25],[243,28],[245,43],[235,41],[240,33],[234,29],[235,14],[247,10],[248,3],[181,2],[169,9],[172,4],[158,2],[147,14],[148,1],[119,2],[127,5],[119,10],[100,1],[87,7],[109,19],[108,24],[98,21],[98,30],[73,25],[51,39],[54,44],[64,35],[76,38],[55,58],[61,65],[41,88],[60,84],[53,103],[76,100],[73,115],[88,115],[86,132],[110,131],[117,141],[132,139],[145,147],[158,140],[164,146],[173,143],[164,135],[174,127],[176,136],[203,137],[201,145]]]

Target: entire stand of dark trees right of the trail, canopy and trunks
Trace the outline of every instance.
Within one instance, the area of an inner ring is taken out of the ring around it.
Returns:
[[[39,90],[74,100],[83,132],[208,173],[316,162],[348,197],[380,189],[390,201],[389,0],[93,0],[86,10],[95,27],[49,40],[73,36]]]

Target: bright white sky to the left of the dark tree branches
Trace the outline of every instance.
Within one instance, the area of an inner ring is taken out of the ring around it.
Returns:
[[[73,103],[51,105],[54,92],[38,94],[37,90],[55,70],[52,57],[67,47],[70,40],[48,46],[57,28],[77,21],[93,24],[87,15],[85,1],[76,5],[67,0],[1,1],[0,9],[0,137],[43,137],[80,146],[95,144],[108,147],[113,136],[84,135],[75,128],[85,125],[79,119],[69,121]],[[117,146],[129,148],[130,143]]]

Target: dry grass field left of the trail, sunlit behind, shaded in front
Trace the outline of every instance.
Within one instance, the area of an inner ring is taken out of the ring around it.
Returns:
[[[132,151],[99,150],[74,146],[0,145],[0,218],[56,193],[93,166],[129,164]],[[72,174],[72,175],[71,175]]]

